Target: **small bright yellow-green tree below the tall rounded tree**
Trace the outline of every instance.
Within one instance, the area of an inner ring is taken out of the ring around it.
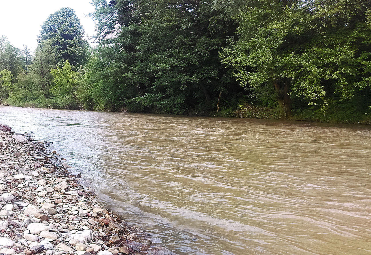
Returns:
[[[64,109],[76,109],[78,107],[75,97],[78,73],[72,70],[68,60],[66,60],[62,68],[57,67],[56,69],[52,69],[50,73],[54,79],[50,91],[55,104]]]

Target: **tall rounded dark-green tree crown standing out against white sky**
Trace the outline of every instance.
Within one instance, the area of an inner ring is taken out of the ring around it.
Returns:
[[[75,11],[62,8],[51,14],[42,25],[39,43],[49,40],[55,50],[56,62],[66,60],[77,69],[88,57],[88,42]]]

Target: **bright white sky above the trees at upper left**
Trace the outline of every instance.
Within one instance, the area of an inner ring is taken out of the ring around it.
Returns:
[[[94,21],[86,16],[94,10],[91,0],[0,0],[0,36],[8,37],[14,46],[31,50],[37,46],[41,25],[50,14],[62,7],[76,11],[85,34],[92,36]]]

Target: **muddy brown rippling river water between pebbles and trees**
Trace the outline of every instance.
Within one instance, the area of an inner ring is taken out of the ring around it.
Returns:
[[[175,254],[370,254],[371,129],[0,106]]]

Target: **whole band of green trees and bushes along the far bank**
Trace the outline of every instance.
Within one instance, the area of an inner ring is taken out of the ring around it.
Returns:
[[[93,0],[91,49],[70,8],[31,53],[0,39],[13,106],[371,121],[371,1]]]

